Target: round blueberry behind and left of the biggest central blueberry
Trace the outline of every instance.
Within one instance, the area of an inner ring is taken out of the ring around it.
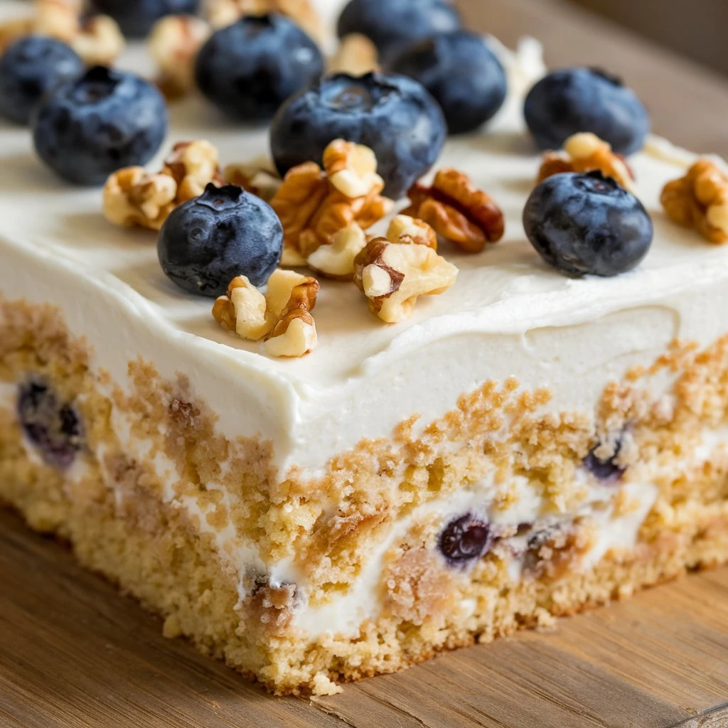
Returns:
[[[248,15],[217,31],[197,55],[199,90],[243,122],[265,122],[320,79],[324,61],[309,36],[282,15]]]

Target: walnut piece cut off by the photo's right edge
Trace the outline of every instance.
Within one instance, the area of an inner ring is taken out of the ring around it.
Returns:
[[[700,232],[705,240],[728,242],[728,175],[710,159],[699,159],[680,179],[662,190],[670,220]]]

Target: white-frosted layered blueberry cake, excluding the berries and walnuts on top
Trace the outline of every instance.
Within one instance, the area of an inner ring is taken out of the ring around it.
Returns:
[[[0,499],[273,692],[333,692],[728,560],[728,252],[661,202],[697,157],[650,137],[611,170],[652,248],[620,277],[563,276],[522,223],[544,69],[533,41],[497,53],[505,106],[438,169],[486,190],[505,236],[440,242],[457,280],[392,325],[322,280],[295,359],[224,331],[165,278],[154,234],[111,226],[100,191],[0,128]],[[197,101],[175,133],[231,162],[266,146]]]

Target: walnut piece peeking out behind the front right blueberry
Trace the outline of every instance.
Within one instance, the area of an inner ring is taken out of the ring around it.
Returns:
[[[614,154],[612,145],[596,134],[583,132],[569,137],[563,151],[547,151],[544,154],[538,182],[564,172],[586,173],[601,170],[617,184],[634,191],[634,175],[625,158]]]

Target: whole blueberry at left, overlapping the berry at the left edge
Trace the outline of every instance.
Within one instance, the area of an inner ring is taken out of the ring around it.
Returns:
[[[39,157],[55,173],[98,185],[154,156],[167,134],[167,106],[149,82],[95,66],[47,95],[31,126]]]

